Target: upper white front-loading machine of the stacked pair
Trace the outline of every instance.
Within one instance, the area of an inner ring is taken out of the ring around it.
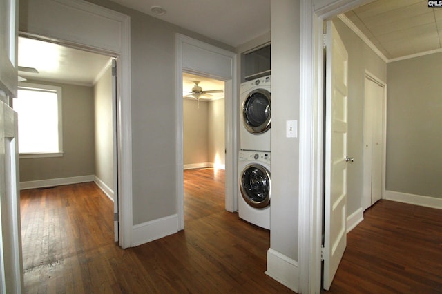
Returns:
[[[240,87],[240,149],[270,151],[271,76]]]

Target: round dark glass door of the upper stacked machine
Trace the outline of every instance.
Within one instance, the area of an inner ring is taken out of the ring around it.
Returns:
[[[257,89],[250,92],[242,104],[242,123],[252,134],[260,134],[270,128],[270,92]]]

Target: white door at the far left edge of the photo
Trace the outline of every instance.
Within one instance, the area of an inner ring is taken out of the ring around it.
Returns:
[[[18,171],[17,1],[0,1],[0,293],[23,291]]]

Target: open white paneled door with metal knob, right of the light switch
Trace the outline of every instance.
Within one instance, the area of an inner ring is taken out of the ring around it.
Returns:
[[[348,54],[327,22],[325,78],[324,288],[328,290],[347,245]]]

